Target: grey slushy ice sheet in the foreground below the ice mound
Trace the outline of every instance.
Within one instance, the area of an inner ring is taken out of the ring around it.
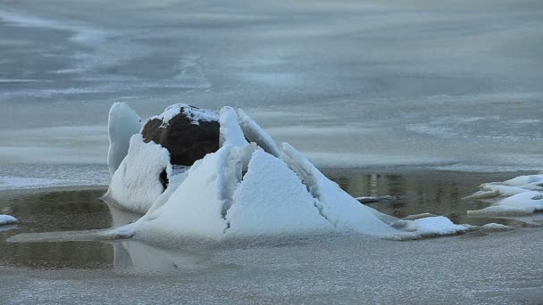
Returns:
[[[535,304],[543,300],[542,233],[186,251],[123,242],[113,270],[2,268],[0,295],[10,304]]]

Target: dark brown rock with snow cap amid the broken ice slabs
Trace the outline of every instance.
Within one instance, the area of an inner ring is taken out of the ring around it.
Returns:
[[[166,148],[172,165],[190,166],[219,149],[219,116],[186,104],[175,104],[146,121],[144,141]]]

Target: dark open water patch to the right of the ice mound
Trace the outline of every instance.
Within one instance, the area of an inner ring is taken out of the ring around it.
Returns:
[[[329,170],[328,177],[347,193],[359,196],[391,195],[397,201],[368,203],[373,209],[397,218],[430,212],[443,215],[455,223],[484,225],[489,221],[511,224],[504,218],[468,218],[466,210],[479,210],[489,203],[462,200],[477,187],[489,181],[503,181],[522,172],[470,173],[453,171],[389,171],[375,173],[366,170]]]

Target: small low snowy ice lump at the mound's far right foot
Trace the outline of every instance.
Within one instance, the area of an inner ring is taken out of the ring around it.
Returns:
[[[466,232],[469,227],[455,225],[444,216],[419,218],[415,220],[398,220],[394,227],[402,228],[407,232],[414,232],[423,237],[437,235],[455,235]]]

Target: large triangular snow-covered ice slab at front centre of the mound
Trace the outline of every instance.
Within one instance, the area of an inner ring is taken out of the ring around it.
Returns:
[[[288,235],[330,231],[311,194],[287,165],[257,150],[234,194],[227,235]]]

